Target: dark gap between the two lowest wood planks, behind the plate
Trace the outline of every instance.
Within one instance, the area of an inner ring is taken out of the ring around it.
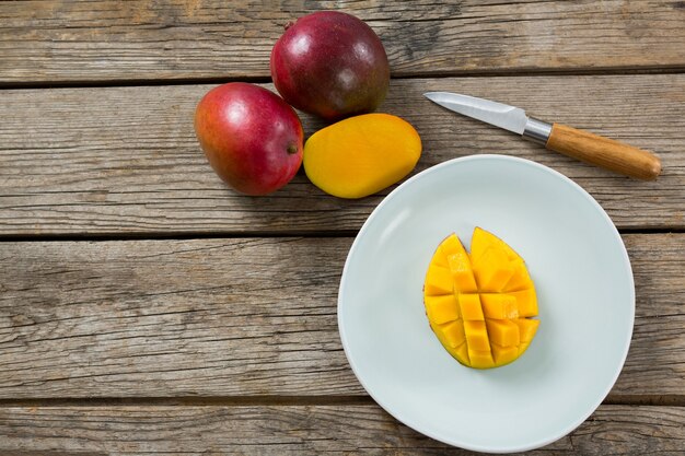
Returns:
[[[373,405],[370,396],[179,396],[0,399],[0,409],[10,407],[269,407]],[[611,395],[605,406],[685,407],[685,395]]]

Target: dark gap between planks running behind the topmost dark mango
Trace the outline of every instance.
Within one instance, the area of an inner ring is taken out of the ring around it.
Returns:
[[[485,71],[436,71],[417,74],[391,75],[393,80],[409,79],[441,79],[441,78],[527,78],[527,77],[582,77],[582,75],[630,75],[630,74],[681,74],[685,73],[685,66],[659,67],[595,67],[578,69],[525,68],[525,69],[492,69]],[[0,91],[21,89],[90,89],[90,87],[131,87],[160,85],[201,85],[223,84],[227,82],[251,82],[266,84],[271,82],[268,77],[210,77],[210,78],[178,78],[178,79],[103,79],[95,81],[27,81],[2,82]]]

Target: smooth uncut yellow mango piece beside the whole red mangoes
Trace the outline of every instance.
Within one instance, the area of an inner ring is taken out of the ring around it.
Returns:
[[[364,114],[312,135],[303,166],[310,180],[340,198],[363,198],[406,177],[421,156],[421,139],[406,120]]]

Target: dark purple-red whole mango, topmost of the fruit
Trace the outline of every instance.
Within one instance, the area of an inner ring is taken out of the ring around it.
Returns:
[[[363,21],[337,11],[288,26],[271,50],[270,68],[288,103],[327,120],[374,110],[390,84],[381,39]]]

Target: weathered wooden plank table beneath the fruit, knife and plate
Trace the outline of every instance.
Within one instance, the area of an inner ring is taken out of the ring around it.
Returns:
[[[391,189],[341,200],[300,174],[239,196],[195,139],[205,92],[272,89],[282,25],[336,5],[386,46],[381,110],[421,135],[415,173],[531,159],[623,235],[628,360],[596,412],[537,453],[683,454],[685,2],[278,3],[0,3],[0,454],[467,453],[384,412],[340,346],[341,268]],[[421,101],[430,90],[653,150],[663,174],[637,182],[547,152]],[[307,135],[322,126],[302,119]]]

